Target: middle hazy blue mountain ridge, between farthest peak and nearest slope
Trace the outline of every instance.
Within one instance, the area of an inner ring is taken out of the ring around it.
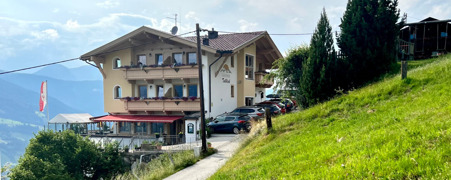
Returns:
[[[40,93],[41,81],[48,81],[47,90],[48,95],[60,102],[66,104],[74,109],[79,109],[81,113],[90,113],[92,116],[101,116],[103,112],[103,82],[102,81],[64,81],[54,79],[47,76],[40,76],[35,74],[25,73],[8,73],[0,75],[0,79],[9,81],[16,85],[22,86],[25,89]],[[8,86],[3,86],[5,89],[10,89]],[[16,94],[16,99],[23,98],[27,93]],[[25,99],[30,103],[39,102],[39,95],[33,95],[31,99]],[[49,99],[51,114],[56,112],[57,109],[52,108],[55,100]],[[22,103],[18,103],[17,106],[11,106],[11,108],[19,109],[18,107],[25,106]],[[78,112],[80,112],[78,111]],[[64,113],[77,113],[77,112],[64,112]],[[55,114],[55,115],[56,115]],[[51,116],[51,118],[54,116]],[[14,119],[13,119],[14,120]]]

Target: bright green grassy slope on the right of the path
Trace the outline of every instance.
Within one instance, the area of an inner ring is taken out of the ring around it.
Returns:
[[[450,98],[448,56],[273,119],[210,179],[451,179]]]

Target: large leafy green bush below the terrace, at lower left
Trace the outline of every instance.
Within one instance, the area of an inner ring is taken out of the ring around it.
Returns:
[[[30,139],[9,177],[12,180],[97,180],[124,170],[119,142],[107,143],[102,148],[73,130],[59,133],[46,130]]]

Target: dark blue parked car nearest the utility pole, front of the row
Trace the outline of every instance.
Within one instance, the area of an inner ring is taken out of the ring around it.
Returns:
[[[252,118],[245,113],[234,112],[217,118],[215,121],[207,123],[207,128],[213,132],[233,132],[238,134],[240,130],[248,130]]]

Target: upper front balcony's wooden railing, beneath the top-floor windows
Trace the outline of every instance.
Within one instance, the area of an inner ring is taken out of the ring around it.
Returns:
[[[119,68],[124,71],[124,78],[126,80],[139,79],[172,79],[172,78],[198,78],[198,65],[186,65],[176,67],[139,67],[133,68]]]

